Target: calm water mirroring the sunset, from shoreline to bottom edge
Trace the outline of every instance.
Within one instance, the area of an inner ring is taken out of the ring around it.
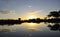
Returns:
[[[0,37],[59,37],[60,31],[50,30],[48,25],[54,23],[0,25]]]

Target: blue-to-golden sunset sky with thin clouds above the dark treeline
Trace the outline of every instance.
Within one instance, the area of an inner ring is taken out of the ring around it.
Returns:
[[[44,18],[60,10],[60,0],[0,0],[0,19]]]

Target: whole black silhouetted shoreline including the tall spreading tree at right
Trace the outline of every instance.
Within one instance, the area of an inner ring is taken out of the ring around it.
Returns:
[[[54,18],[50,18],[54,17]],[[21,24],[21,23],[41,23],[41,22],[48,22],[48,23],[60,23],[60,11],[52,11],[50,14],[47,15],[47,18],[40,19],[29,19],[29,20],[21,20],[21,18],[18,18],[18,20],[9,19],[9,20],[0,20],[0,25],[5,24]]]

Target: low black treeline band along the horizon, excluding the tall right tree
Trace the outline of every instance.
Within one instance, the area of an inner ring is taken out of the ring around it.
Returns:
[[[60,23],[60,18],[51,18],[51,19],[29,19],[29,20],[0,20],[0,24],[21,24],[21,23],[41,23],[41,22],[48,22],[48,23]]]

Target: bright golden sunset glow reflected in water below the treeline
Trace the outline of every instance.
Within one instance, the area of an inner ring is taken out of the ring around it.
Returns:
[[[40,24],[23,23],[21,26],[24,27],[24,29],[27,29],[29,31],[43,31],[43,30],[45,30],[44,26],[46,26],[46,25],[44,23],[40,23]]]

